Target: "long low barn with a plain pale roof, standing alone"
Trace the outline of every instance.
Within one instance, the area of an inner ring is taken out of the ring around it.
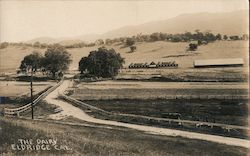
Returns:
[[[244,61],[242,58],[233,59],[208,59],[208,60],[195,60],[194,67],[237,67],[243,66]]]

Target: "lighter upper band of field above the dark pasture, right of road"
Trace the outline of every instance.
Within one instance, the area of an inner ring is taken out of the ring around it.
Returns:
[[[231,98],[248,95],[247,83],[235,82],[140,82],[102,81],[79,83],[73,97],[81,100],[109,99],[175,99],[187,98]]]

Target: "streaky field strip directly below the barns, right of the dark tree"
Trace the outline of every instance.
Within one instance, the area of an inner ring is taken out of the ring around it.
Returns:
[[[247,82],[247,67],[122,69],[118,80],[166,82]]]

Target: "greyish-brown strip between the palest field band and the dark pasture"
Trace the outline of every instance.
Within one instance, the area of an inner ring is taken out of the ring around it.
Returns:
[[[219,85],[219,84],[218,84]],[[105,86],[103,86],[105,87]],[[110,88],[110,89],[75,89],[73,97],[81,100],[109,100],[109,99],[167,99],[176,96],[247,96],[246,89],[206,89],[202,88]]]

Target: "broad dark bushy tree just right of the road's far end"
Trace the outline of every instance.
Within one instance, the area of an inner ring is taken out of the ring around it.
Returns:
[[[123,63],[124,59],[114,49],[101,47],[80,60],[79,70],[81,73],[87,70],[93,76],[113,77],[118,74]]]

